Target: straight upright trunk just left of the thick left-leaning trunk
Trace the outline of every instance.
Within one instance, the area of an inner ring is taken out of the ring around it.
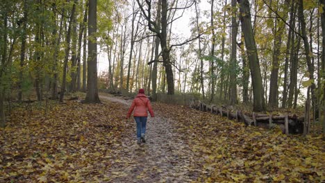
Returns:
[[[230,105],[238,103],[237,101],[237,33],[238,25],[236,21],[236,0],[231,0],[231,72],[230,72]]]

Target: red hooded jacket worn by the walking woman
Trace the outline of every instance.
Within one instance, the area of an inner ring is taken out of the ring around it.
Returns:
[[[150,112],[150,116],[154,117],[149,98],[144,94],[138,94],[135,96],[130,109],[128,110],[127,118],[131,116],[133,109],[135,107],[133,116],[148,116],[147,110]]]

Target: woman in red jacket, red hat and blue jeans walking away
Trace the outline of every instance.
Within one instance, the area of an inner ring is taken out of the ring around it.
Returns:
[[[150,116],[154,117],[151,104],[149,101],[149,98],[144,94],[144,89],[139,89],[139,94],[135,96],[132,105],[130,109],[128,110],[128,114],[126,115],[126,118],[130,118],[131,113],[133,112],[133,109],[135,107],[133,117],[135,119],[135,122],[137,122],[137,142],[141,143],[146,142],[144,139],[144,136],[146,134],[146,124],[147,124],[147,116],[148,116],[148,110],[150,112]]]

